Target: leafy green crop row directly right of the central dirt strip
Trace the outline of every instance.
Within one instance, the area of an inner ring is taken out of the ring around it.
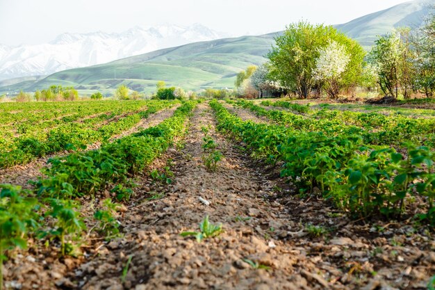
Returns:
[[[392,147],[366,145],[356,134],[327,136],[318,131],[243,121],[211,102],[218,128],[245,143],[254,156],[284,163],[281,175],[301,193],[319,188],[336,207],[356,218],[404,214],[412,196],[425,200],[418,216],[435,226],[434,154],[407,144],[406,154]]]

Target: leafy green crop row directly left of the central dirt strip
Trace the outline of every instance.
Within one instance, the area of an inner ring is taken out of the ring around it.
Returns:
[[[85,239],[83,232],[87,230],[79,212],[80,198],[101,198],[98,194],[107,190],[118,201],[129,200],[131,177],[142,172],[167,150],[174,138],[183,134],[186,118],[195,106],[196,102],[183,102],[161,124],[106,142],[99,150],[49,159],[51,166],[44,168],[43,177],[33,182],[32,191],[0,184],[0,261],[6,258],[6,250],[26,248],[31,238],[42,239],[46,244],[58,241],[63,255],[72,254],[74,243]],[[147,108],[151,108],[150,103]],[[111,199],[104,200],[93,220],[88,220],[95,224],[90,230],[107,239],[116,236],[120,226],[113,218],[116,207]]]

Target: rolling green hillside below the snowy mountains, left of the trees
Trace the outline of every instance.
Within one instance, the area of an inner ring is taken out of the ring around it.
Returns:
[[[248,65],[259,65],[270,49],[274,35],[224,38],[161,49],[123,58],[104,65],[65,70],[40,81],[24,81],[3,87],[10,91],[33,91],[51,84],[75,86],[81,93],[112,92],[124,83],[133,90],[152,92],[156,81],[186,90],[232,87],[233,77]],[[1,89],[0,89],[1,90]]]

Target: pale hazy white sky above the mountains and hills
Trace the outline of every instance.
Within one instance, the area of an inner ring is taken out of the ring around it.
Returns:
[[[0,0],[0,43],[38,44],[64,32],[120,32],[156,24],[231,35],[283,30],[301,19],[340,24],[404,0]]]

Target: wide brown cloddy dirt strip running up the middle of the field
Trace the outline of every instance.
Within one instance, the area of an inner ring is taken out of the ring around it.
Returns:
[[[202,161],[202,126],[207,125],[224,154],[216,172],[208,172]],[[277,168],[254,163],[214,126],[210,108],[200,104],[185,147],[169,150],[155,163],[156,168],[172,164],[173,183],[155,184],[146,175],[138,179],[136,199],[119,219],[124,237],[95,241],[79,259],[47,261],[31,252],[8,262],[9,281],[12,277],[21,289],[32,284],[88,290],[426,288],[435,274],[430,232],[409,221],[366,225],[315,196],[297,198],[277,177]],[[155,193],[165,196],[146,199]],[[206,214],[223,224],[222,234],[202,243],[179,235],[197,231]],[[325,233],[316,236],[311,225]],[[253,268],[243,259],[269,268]]]

